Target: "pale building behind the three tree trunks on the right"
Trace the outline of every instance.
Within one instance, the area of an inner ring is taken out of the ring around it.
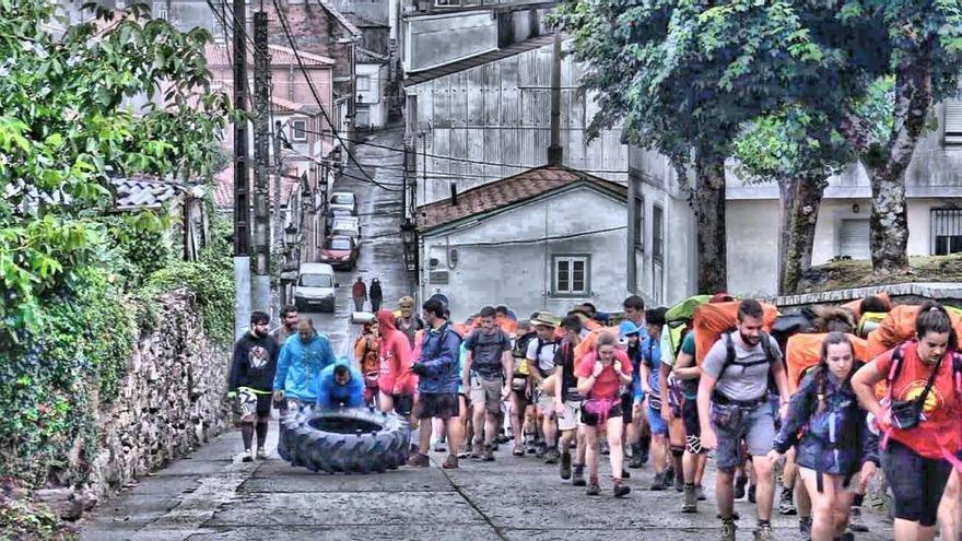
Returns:
[[[905,173],[910,256],[962,252],[962,102],[939,104],[935,113],[940,128],[919,142]],[[629,174],[629,290],[657,304],[699,293],[695,222],[677,172],[665,156],[632,146]],[[772,296],[779,264],[778,187],[746,184],[730,169],[726,183],[728,290]],[[869,259],[872,201],[865,168],[853,164],[829,184],[812,264]]]

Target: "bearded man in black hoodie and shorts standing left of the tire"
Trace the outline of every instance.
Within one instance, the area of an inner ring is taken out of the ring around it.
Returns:
[[[250,314],[250,330],[234,345],[231,380],[227,396],[236,398],[242,412],[241,437],[244,439],[244,461],[254,454],[254,432],[257,431],[257,458],[267,458],[263,445],[270,420],[271,385],[278,367],[278,344],[268,333],[270,317],[262,311]]]

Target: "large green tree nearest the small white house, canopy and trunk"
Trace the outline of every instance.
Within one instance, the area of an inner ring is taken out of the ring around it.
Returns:
[[[556,20],[590,66],[593,133],[623,121],[671,160],[697,223],[699,290],[726,290],[725,162],[746,122],[821,85],[805,19],[781,1],[565,0]]]

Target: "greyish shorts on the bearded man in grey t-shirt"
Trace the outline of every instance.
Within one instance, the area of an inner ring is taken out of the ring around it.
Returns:
[[[712,428],[718,442],[715,466],[722,471],[734,472],[743,460],[742,439],[753,457],[764,457],[773,449],[775,419],[767,400],[752,407],[712,402]]]

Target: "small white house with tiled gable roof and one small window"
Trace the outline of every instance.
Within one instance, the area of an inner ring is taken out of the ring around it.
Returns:
[[[564,314],[625,296],[627,190],[563,166],[541,166],[418,209],[419,298],[438,295],[457,320],[484,304],[520,317]]]

